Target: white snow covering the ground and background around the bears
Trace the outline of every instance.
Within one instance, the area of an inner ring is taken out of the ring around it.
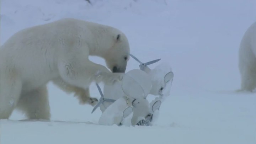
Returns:
[[[1,120],[1,144],[256,143],[256,94],[235,92],[238,47],[256,20],[255,0],[91,2],[1,0],[1,45],[23,28],[64,17],[116,27],[126,33],[139,60],[161,58],[172,66],[174,81],[158,121],[151,127],[98,125],[99,108],[91,114],[92,106],[79,105],[49,83],[51,121],[22,121],[23,114],[15,111],[10,120]],[[105,65],[101,58],[90,59]],[[127,71],[138,68],[130,58]],[[95,85],[90,92],[100,98]]]

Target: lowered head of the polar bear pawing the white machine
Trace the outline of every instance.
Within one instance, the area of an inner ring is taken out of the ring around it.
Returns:
[[[129,60],[130,47],[125,34],[117,33],[112,37],[114,43],[108,48],[105,54],[107,67],[113,73],[125,73],[127,62]]]

